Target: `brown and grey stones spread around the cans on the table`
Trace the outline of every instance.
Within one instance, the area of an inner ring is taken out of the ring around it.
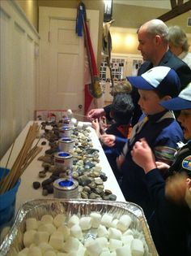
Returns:
[[[52,129],[46,128],[51,125]],[[100,167],[99,150],[93,148],[90,131],[88,128],[73,128],[71,135],[74,140],[74,149],[70,151],[73,156],[72,168],[63,170],[54,164],[54,154],[59,151],[58,139],[59,128],[62,127],[62,122],[43,122],[42,129],[45,130],[43,136],[49,141],[49,150],[45,151],[45,155],[38,158],[42,161],[43,170],[39,171],[40,178],[46,178],[41,183],[33,182],[33,188],[39,189],[42,187],[42,194],[46,196],[53,193],[53,182],[60,178],[74,179],[79,182],[79,197],[85,199],[103,199],[115,201],[116,195],[112,191],[104,189],[104,181],[107,176],[102,172]],[[42,142],[42,145],[45,141]]]

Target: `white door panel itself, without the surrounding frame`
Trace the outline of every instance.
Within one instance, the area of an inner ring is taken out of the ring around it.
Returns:
[[[83,106],[83,37],[74,28],[74,20],[50,20],[49,104],[57,110]]]

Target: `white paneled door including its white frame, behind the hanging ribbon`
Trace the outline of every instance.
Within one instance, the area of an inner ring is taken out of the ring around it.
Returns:
[[[75,20],[75,9],[40,7],[39,110],[83,113],[84,39],[75,33]],[[87,11],[87,20],[96,55],[99,11]]]

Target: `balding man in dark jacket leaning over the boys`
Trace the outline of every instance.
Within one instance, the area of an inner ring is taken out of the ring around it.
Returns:
[[[138,76],[155,66],[166,66],[173,68],[180,78],[181,89],[184,89],[191,81],[191,69],[181,59],[172,54],[168,49],[168,27],[162,20],[150,20],[138,29],[138,50],[141,51],[145,61],[138,70]],[[137,124],[142,111],[138,106],[138,91],[132,92],[134,100],[134,115],[132,125]],[[110,106],[92,109],[87,117],[95,119],[101,115],[108,115]]]

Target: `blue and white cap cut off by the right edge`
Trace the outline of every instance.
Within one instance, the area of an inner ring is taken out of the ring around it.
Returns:
[[[191,109],[191,82],[183,89],[178,97],[159,103],[170,111],[181,111]]]

